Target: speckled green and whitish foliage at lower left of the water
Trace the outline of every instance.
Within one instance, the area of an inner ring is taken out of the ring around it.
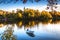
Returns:
[[[7,29],[3,32],[1,38],[2,40],[16,40],[16,36],[13,34],[14,25],[7,25]]]

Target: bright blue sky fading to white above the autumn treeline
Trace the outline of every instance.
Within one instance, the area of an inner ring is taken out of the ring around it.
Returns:
[[[3,0],[3,1],[7,1],[7,0]],[[60,7],[60,5],[58,5]],[[46,10],[47,7],[47,2],[46,1],[39,1],[37,2],[33,2],[31,3],[30,1],[27,1],[27,3],[23,4],[22,1],[18,1],[16,3],[1,3],[0,4],[0,10],[6,10],[6,11],[12,11],[12,10],[16,10],[16,9],[22,9],[23,8],[31,8],[31,9],[38,9],[40,11],[42,10]],[[60,8],[57,8],[57,10],[60,10]]]

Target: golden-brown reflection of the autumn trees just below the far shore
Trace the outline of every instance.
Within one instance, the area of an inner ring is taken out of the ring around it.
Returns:
[[[19,28],[22,28],[22,26],[24,26],[24,28],[32,28],[32,27],[34,27],[34,26],[38,26],[40,23],[42,23],[42,24],[58,24],[58,23],[60,23],[60,20],[48,20],[48,21],[20,21],[20,22],[18,22],[18,23],[16,23],[17,24],[17,26],[19,27]]]

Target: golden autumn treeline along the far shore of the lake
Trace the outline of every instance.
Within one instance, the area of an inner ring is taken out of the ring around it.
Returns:
[[[7,21],[7,22],[16,22],[16,21],[31,21],[31,20],[40,20],[40,21],[47,21],[47,20],[60,20],[60,12],[58,11],[45,11],[43,10],[40,12],[39,10],[34,9],[24,9],[24,11],[18,9],[16,12],[1,14],[0,13],[0,21]]]

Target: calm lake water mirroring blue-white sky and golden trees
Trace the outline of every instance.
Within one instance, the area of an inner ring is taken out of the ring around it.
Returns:
[[[33,34],[27,34],[33,31]],[[34,35],[34,36],[32,36]],[[0,40],[60,40],[60,22],[0,24]]]

